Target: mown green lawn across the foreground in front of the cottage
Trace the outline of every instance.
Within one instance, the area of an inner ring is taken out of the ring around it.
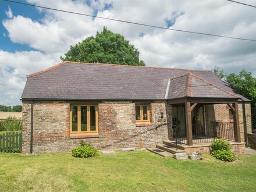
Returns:
[[[256,157],[222,162],[118,152],[94,158],[70,154],[0,154],[0,191],[255,191]]]

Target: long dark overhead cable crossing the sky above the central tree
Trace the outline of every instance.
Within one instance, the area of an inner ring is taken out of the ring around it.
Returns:
[[[210,33],[200,33],[200,32],[195,32],[195,31],[187,31],[187,30],[179,30],[179,29],[170,29],[170,28],[167,28],[167,27],[153,26],[151,24],[129,22],[129,21],[120,20],[120,19],[111,19],[111,18],[108,18],[108,17],[100,17],[100,16],[88,15],[88,14],[84,14],[84,13],[71,12],[71,11],[68,11],[68,10],[48,8],[46,6],[32,5],[30,3],[23,3],[23,2],[18,2],[18,1],[11,1],[11,0],[2,0],[2,1],[8,1],[8,2],[12,2],[12,3],[18,3],[18,4],[21,4],[21,5],[27,5],[27,6],[34,6],[36,8],[42,8],[42,9],[56,10],[56,11],[59,11],[59,12],[72,13],[72,14],[75,14],[75,15],[83,15],[83,16],[94,17],[94,18],[99,18],[99,19],[112,20],[112,21],[115,21],[115,22],[137,24],[139,26],[146,26],[146,27],[154,27],[154,28],[158,28],[158,29],[179,31],[179,32],[184,32],[184,33],[200,34],[200,35],[208,35],[208,36],[222,37],[222,38],[231,38],[231,39],[234,39],[234,40],[256,41],[256,40],[248,39],[248,38],[229,37],[229,36],[225,36],[225,35],[217,35],[217,34],[210,34]]]

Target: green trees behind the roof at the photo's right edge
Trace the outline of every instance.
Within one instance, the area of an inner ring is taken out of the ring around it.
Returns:
[[[229,84],[236,93],[251,100],[251,120],[253,126],[256,126],[256,78],[253,77],[251,72],[244,69],[239,74],[224,74],[223,70],[215,67],[213,72]]]

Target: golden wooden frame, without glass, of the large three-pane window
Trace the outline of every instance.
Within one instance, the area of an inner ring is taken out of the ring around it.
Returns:
[[[72,107],[77,106],[77,131],[72,131]],[[87,131],[81,131],[81,106],[87,107]],[[95,131],[91,131],[91,109],[90,106],[95,107]],[[95,134],[98,133],[98,105],[94,104],[72,104],[69,111],[69,126],[70,134]]]

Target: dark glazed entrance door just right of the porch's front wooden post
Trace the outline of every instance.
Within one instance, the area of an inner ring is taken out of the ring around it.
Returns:
[[[191,112],[193,136],[205,136],[204,106],[195,106]]]

